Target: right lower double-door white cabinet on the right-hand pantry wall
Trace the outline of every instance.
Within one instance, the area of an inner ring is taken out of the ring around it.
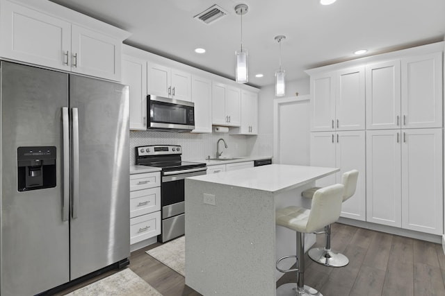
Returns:
[[[369,130],[367,220],[443,233],[442,129]]]

